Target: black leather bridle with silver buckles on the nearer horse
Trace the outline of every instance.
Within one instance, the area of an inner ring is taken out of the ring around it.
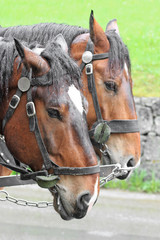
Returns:
[[[43,161],[44,161],[44,169],[37,172],[32,171],[21,171],[18,167],[16,169],[15,166],[11,166],[6,162],[2,162],[1,165],[10,168],[11,170],[15,170],[21,173],[22,179],[35,179],[37,176],[47,176],[49,170],[53,170],[53,175],[90,175],[100,172],[99,165],[94,165],[90,167],[60,167],[55,162],[51,161],[49,158],[49,154],[41,137],[41,133],[38,126],[38,120],[36,115],[35,104],[32,99],[32,88],[31,88],[31,80],[32,80],[32,71],[29,73],[29,77],[22,77],[18,81],[18,89],[14,96],[12,97],[6,115],[2,122],[2,132],[4,132],[6,123],[12,117],[15,112],[15,109],[18,107],[20,102],[20,98],[24,92],[27,92],[27,104],[26,104],[26,112],[29,118],[29,127],[30,131],[35,134]],[[2,158],[2,156],[1,156]]]

